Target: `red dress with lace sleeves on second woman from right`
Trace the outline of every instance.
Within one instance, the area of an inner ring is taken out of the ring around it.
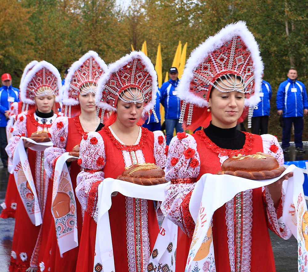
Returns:
[[[124,167],[136,163],[149,162],[164,167],[165,145],[161,131],[153,133],[142,127],[135,145],[131,146],[121,143],[109,126],[99,133],[88,133],[87,139],[82,140],[79,163],[85,169],[77,177],[76,194],[86,212],[80,241],[83,250],[79,251],[76,271],[100,269],[100,264],[93,263],[99,183],[104,178],[116,178]],[[120,193],[111,200],[109,218],[115,271],[146,271],[159,231],[154,202]]]

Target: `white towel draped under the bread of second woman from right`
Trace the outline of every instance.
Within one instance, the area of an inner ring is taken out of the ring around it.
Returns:
[[[119,192],[131,198],[164,200],[164,188],[169,183],[154,186],[143,186],[131,182],[123,182],[113,178],[105,178],[98,187],[98,218],[95,239],[95,256],[93,271],[115,271],[111,230],[108,210],[111,207],[111,194]],[[95,270],[96,269],[96,270]],[[103,269],[103,270],[97,270]]]

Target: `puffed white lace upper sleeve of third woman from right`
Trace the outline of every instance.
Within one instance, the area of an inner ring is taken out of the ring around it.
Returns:
[[[58,117],[55,122],[52,123],[50,129],[50,138],[54,146],[59,148],[66,148],[67,135],[68,135],[68,118]],[[66,151],[65,151],[66,152]]]

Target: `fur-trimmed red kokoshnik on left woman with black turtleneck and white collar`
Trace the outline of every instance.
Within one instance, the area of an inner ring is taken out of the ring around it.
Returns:
[[[20,83],[20,98],[23,103],[34,105],[35,92],[41,86],[50,87],[55,93],[55,101],[60,102],[61,76],[58,69],[47,61],[41,61],[26,74],[23,82]]]

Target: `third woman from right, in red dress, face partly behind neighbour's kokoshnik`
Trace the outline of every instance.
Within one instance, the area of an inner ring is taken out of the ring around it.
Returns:
[[[71,152],[75,146],[79,146],[83,137],[87,137],[90,131],[99,131],[103,127],[103,118],[95,118],[95,93],[99,77],[106,73],[107,65],[94,51],[84,54],[78,61],[74,62],[69,69],[65,84],[63,86],[63,112],[68,117],[58,117],[50,128],[50,138],[54,146],[45,150],[45,170],[50,177],[50,183],[54,182],[55,164],[60,155]],[[71,110],[80,111],[80,114],[71,117]],[[78,157],[77,153],[74,156]],[[42,250],[39,253],[39,267],[41,271],[75,271],[79,246],[74,244],[74,239],[67,238],[67,229],[70,222],[71,228],[77,226],[78,243],[82,230],[83,211],[79,201],[75,197],[76,177],[80,172],[77,158],[67,160],[71,178],[71,201],[68,213],[62,216],[53,217],[52,213],[43,221]],[[55,184],[53,185],[55,187]],[[60,189],[59,189],[60,190]],[[64,190],[66,191],[66,190]],[[57,192],[54,192],[57,194]],[[47,206],[49,211],[54,206],[52,203],[53,188],[47,194]],[[76,214],[77,222],[72,223],[70,215]],[[55,216],[55,215],[54,215]],[[65,235],[64,235],[65,234]],[[65,242],[63,238],[65,237]],[[59,247],[72,242],[71,249],[60,255]]]

